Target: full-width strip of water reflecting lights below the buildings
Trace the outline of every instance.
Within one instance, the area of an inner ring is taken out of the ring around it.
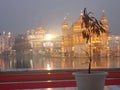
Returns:
[[[33,57],[17,56],[0,58],[0,69],[6,70],[52,70],[52,69],[79,69],[87,68],[88,60],[85,57]],[[120,57],[114,58],[93,58],[92,68],[119,68]]]

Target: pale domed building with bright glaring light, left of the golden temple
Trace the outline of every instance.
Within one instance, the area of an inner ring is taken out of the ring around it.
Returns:
[[[62,52],[62,37],[53,35],[41,26],[28,31],[27,38],[36,54],[56,56]]]

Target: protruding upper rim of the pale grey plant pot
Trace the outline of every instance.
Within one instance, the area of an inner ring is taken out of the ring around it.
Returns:
[[[107,75],[108,73],[107,72],[104,72],[104,71],[92,71],[91,73],[88,73],[88,72],[73,72],[72,73],[73,75],[75,76],[85,76],[85,75],[89,75],[89,76],[94,76],[94,75]]]

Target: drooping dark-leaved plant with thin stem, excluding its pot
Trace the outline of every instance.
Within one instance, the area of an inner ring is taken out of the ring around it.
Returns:
[[[86,54],[89,58],[88,73],[91,73],[91,37],[92,35],[96,35],[97,37],[99,37],[101,33],[106,33],[106,30],[104,29],[103,24],[99,20],[97,20],[97,18],[93,15],[92,12],[87,12],[86,8],[84,8],[82,20],[83,21],[81,27],[83,29],[83,38],[86,39],[86,43],[90,43],[90,52],[86,52]]]

